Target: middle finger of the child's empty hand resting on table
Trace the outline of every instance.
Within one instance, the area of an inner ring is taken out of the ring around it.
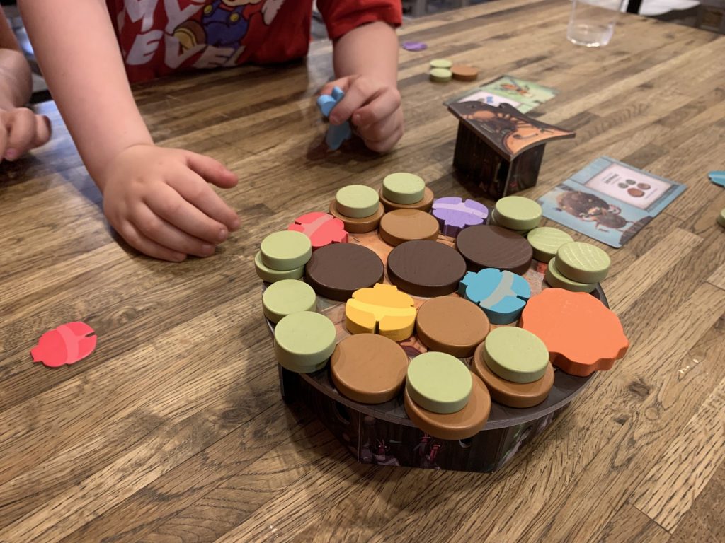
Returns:
[[[144,197],[144,201],[159,217],[199,240],[217,245],[229,235],[224,224],[211,219],[181,198],[169,185],[159,184],[156,190]]]

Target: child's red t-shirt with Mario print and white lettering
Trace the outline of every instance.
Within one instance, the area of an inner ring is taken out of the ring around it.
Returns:
[[[131,82],[189,68],[269,64],[307,54],[312,0],[107,0]],[[400,0],[318,0],[335,40],[366,22],[402,22]]]

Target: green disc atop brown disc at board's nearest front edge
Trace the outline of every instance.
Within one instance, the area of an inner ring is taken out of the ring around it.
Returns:
[[[405,384],[413,402],[432,413],[457,413],[468,403],[471,371],[455,356],[428,352],[410,362]]]

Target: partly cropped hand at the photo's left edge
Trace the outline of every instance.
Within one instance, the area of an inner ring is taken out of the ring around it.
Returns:
[[[15,160],[50,139],[50,121],[27,107],[0,109],[0,161]]]

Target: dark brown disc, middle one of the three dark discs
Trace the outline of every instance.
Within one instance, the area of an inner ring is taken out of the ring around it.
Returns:
[[[406,241],[388,255],[390,282],[414,296],[433,298],[455,292],[464,275],[463,256],[437,241]]]

